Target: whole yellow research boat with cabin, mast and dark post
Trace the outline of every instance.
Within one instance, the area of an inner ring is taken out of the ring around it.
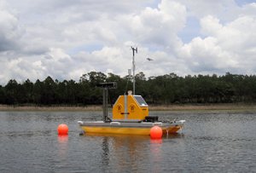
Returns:
[[[164,135],[182,130],[185,120],[159,121],[156,116],[148,116],[148,104],[141,95],[135,95],[134,54],[137,53],[137,49],[132,47],[131,49],[133,51],[133,92],[128,91],[127,95],[119,95],[112,108],[112,118],[108,118],[108,89],[116,88],[116,83],[99,84],[98,86],[103,89],[102,121],[78,121],[85,133],[148,136],[155,125],[161,128]]]

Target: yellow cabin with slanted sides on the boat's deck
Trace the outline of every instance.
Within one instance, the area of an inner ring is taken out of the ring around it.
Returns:
[[[141,95],[120,95],[113,105],[113,121],[142,121],[148,116],[148,104]]]

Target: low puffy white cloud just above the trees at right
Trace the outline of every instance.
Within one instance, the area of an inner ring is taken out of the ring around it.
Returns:
[[[215,37],[196,37],[183,46],[183,52],[192,72],[218,72],[238,65],[234,55],[222,49]]]

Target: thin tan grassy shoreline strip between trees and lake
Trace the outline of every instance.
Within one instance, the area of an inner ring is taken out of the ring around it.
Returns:
[[[111,109],[111,108],[110,108]],[[101,105],[86,107],[75,106],[9,106],[0,105],[1,112],[27,111],[27,112],[96,112],[102,111]],[[168,112],[256,112],[256,104],[225,103],[225,104],[184,104],[149,106],[149,111]]]

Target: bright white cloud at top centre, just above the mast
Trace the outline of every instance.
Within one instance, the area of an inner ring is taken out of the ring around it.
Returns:
[[[123,24],[138,43],[156,47],[174,46],[173,40],[186,21],[185,7],[163,0],[157,9],[145,8],[139,14],[125,16]]]

